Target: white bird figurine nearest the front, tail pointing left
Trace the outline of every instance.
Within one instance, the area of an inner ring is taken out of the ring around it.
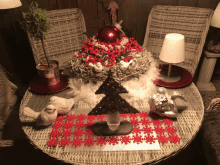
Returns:
[[[36,126],[51,125],[57,118],[57,110],[51,104],[47,105],[41,112],[35,112],[30,107],[25,107],[24,115],[33,117],[36,120]]]

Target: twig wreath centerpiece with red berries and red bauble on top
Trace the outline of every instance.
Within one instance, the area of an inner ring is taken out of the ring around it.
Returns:
[[[122,32],[119,23],[101,28],[96,35],[83,43],[81,50],[69,63],[72,77],[83,82],[103,81],[111,69],[116,81],[138,78],[150,67],[146,51]]]

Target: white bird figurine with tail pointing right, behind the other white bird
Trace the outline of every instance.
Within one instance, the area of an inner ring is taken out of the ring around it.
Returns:
[[[75,102],[77,102],[79,99],[80,99],[80,95],[70,99],[52,96],[50,98],[49,104],[54,105],[54,107],[57,110],[57,113],[63,115],[68,113],[75,104]]]

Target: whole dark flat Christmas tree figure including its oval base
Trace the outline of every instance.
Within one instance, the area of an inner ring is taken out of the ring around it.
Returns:
[[[139,111],[126,102],[119,93],[128,93],[128,91],[113,79],[112,73],[109,71],[108,78],[95,93],[105,94],[106,96],[92,109],[91,112],[89,112],[88,115],[109,114],[108,112],[115,113],[116,111],[123,114],[139,113]],[[110,130],[108,124],[106,121],[96,122],[92,126],[93,133],[98,136],[127,135],[133,130],[133,125],[129,121],[121,121],[116,130]],[[114,122],[112,124],[114,125]]]

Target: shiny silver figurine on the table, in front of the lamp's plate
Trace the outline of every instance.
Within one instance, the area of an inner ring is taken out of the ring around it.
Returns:
[[[181,93],[174,91],[169,95],[165,88],[160,87],[156,94],[150,96],[148,101],[150,110],[163,117],[176,118],[178,115],[178,106],[174,102],[176,98],[186,101]]]

